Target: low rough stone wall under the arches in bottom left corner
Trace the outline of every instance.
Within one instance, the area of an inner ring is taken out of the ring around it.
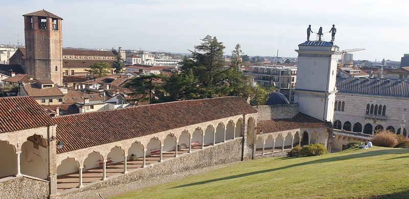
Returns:
[[[44,180],[35,180],[22,176],[10,177],[11,180],[2,179],[0,182],[0,198],[47,198],[49,183]]]

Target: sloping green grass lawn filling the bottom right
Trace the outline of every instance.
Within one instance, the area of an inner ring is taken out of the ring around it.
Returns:
[[[409,198],[409,149],[245,161],[112,198]]]

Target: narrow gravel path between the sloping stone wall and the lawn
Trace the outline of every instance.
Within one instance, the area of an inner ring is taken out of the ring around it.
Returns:
[[[223,164],[223,165],[216,165],[216,166],[212,166],[212,167],[208,167],[208,168],[201,168],[201,169],[186,171],[186,172],[183,172],[183,173],[176,173],[176,174],[168,175],[168,176],[165,176],[165,177],[162,177],[162,178],[142,180],[142,181],[139,181],[139,182],[132,182],[132,183],[129,183],[129,184],[122,184],[122,185],[118,185],[118,186],[112,186],[112,187],[100,190],[99,193],[103,198],[107,198],[107,197],[120,195],[120,194],[130,192],[130,191],[133,191],[133,190],[137,190],[137,189],[142,189],[142,188],[146,188],[146,187],[150,187],[150,186],[154,186],[154,185],[158,185],[158,184],[163,184],[163,183],[167,183],[167,182],[172,182],[172,181],[184,179],[184,178],[186,178],[188,176],[191,176],[191,175],[206,173],[206,172],[209,172],[209,171],[213,171],[213,170],[216,170],[216,169],[228,167],[230,165],[234,165],[234,164],[238,164],[238,163],[239,162]],[[101,198],[101,197],[95,197],[95,195],[93,197],[94,198]]]

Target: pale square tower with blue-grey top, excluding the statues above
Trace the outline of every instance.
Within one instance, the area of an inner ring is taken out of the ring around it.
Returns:
[[[298,47],[294,102],[301,113],[332,122],[339,47],[328,41],[306,41]]]

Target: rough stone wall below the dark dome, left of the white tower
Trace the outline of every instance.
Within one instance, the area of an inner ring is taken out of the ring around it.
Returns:
[[[299,112],[299,104],[280,104],[280,105],[260,105],[253,106],[258,113],[258,120],[272,120],[280,118],[292,118]]]

